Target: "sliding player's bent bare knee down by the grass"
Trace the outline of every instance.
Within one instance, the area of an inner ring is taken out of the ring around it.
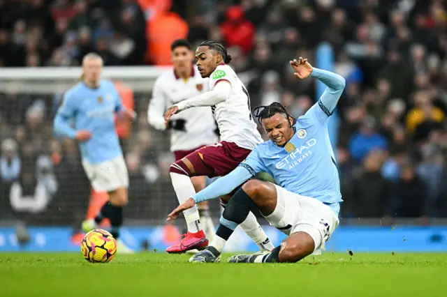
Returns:
[[[297,232],[281,244],[280,262],[298,262],[314,252],[315,243],[312,236],[305,232]]]

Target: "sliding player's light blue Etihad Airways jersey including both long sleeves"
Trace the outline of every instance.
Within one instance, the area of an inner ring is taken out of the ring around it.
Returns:
[[[193,195],[196,203],[228,194],[258,172],[268,172],[282,188],[318,199],[338,215],[343,200],[328,121],[342,95],[345,79],[318,68],[314,68],[311,77],[328,87],[293,125],[295,134],[286,146],[277,146],[271,140],[260,144],[233,172]]]

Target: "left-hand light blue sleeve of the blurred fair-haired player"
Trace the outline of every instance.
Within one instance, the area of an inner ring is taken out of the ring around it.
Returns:
[[[76,130],[71,127],[70,120],[75,116],[75,98],[71,92],[67,92],[64,96],[64,101],[57,110],[54,117],[53,130],[57,135],[74,139],[76,137]]]

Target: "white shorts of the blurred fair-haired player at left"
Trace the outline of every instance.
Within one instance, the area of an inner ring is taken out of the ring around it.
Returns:
[[[91,186],[97,192],[112,192],[117,188],[129,187],[129,173],[122,155],[99,164],[91,164],[87,160],[82,160],[82,166],[84,166]]]

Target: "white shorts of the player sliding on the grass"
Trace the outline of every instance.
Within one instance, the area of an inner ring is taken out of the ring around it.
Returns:
[[[314,239],[313,254],[321,254],[325,242],[338,227],[335,212],[317,199],[289,192],[279,185],[274,187],[277,189],[277,206],[265,219],[286,235],[306,232]]]

